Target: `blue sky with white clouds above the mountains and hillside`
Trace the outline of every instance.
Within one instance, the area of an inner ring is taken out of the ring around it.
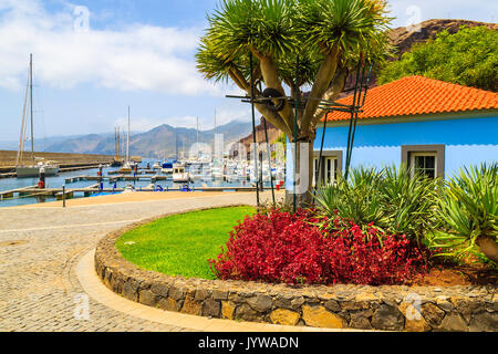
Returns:
[[[494,0],[391,0],[393,27],[428,19],[496,22]],[[19,138],[33,53],[35,137],[160,124],[210,129],[250,107],[196,70],[218,0],[0,0],[0,140]]]

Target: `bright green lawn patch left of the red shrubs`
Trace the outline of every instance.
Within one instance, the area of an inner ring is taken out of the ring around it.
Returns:
[[[215,279],[207,260],[221,252],[237,221],[255,212],[252,207],[235,207],[175,215],[124,233],[116,246],[124,258],[143,269]]]

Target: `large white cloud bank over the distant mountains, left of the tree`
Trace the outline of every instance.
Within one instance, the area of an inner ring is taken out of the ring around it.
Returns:
[[[49,13],[38,0],[0,0],[0,86],[25,83],[29,53],[35,79],[53,87],[82,83],[122,91],[219,94],[196,71],[198,29],[131,24],[74,30],[72,10]]]

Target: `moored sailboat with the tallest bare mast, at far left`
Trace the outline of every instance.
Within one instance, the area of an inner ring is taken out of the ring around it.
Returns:
[[[31,122],[31,164],[24,165],[24,142],[27,140],[27,107],[28,96],[30,106],[30,122]],[[38,163],[37,163],[38,160]],[[21,123],[21,136],[19,138],[18,156],[15,159],[15,176],[22,177],[38,177],[40,176],[40,169],[43,168],[45,176],[54,176],[59,174],[59,166],[53,162],[44,162],[41,158],[34,156],[34,134],[33,134],[33,54],[30,54],[30,73],[28,76],[28,84],[24,95],[24,107],[22,110],[22,123]]]

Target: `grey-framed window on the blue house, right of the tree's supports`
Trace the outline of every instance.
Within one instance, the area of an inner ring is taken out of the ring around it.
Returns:
[[[412,175],[424,174],[429,178],[445,177],[445,145],[404,145],[402,163]]]

